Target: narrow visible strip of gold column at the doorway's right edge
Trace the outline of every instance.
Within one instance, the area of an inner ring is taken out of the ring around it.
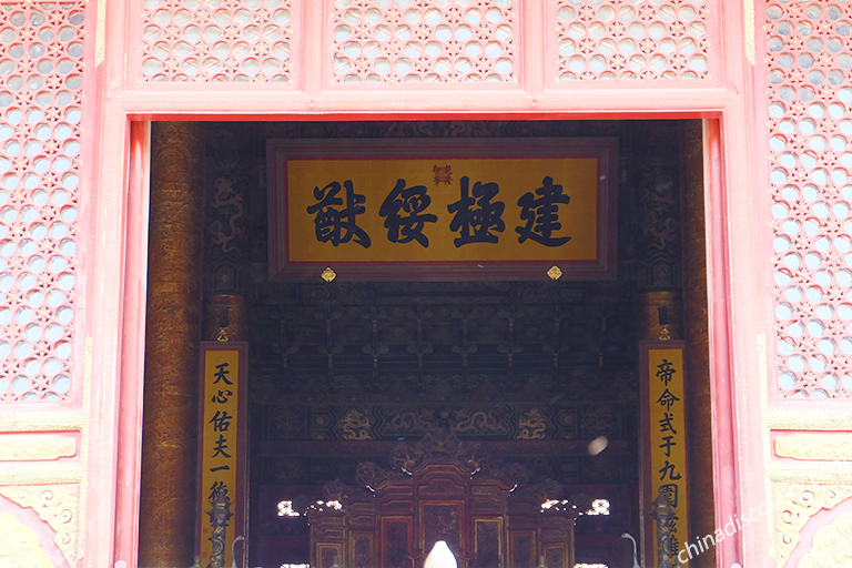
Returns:
[[[681,219],[683,220],[683,322],[686,326],[689,514],[693,538],[716,530],[710,352],[707,317],[703,129],[700,120],[681,124]],[[716,567],[716,549],[690,560],[692,568]]]

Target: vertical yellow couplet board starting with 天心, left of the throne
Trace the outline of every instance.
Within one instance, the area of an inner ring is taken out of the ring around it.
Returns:
[[[217,494],[227,497],[224,534],[224,566],[231,566],[234,538],[246,536],[246,454],[247,446],[247,366],[246,342],[201,343],[201,402],[199,442],[199,539],[201,565],[207,566],[214,552],[214,509]],[[221,499],[220,499],[221,500]],[[221,524],[221,519],[220,519]],[[216,537],[221,535],[221,527]],[[239,564],[245,565],[246,547],[237,546]]]

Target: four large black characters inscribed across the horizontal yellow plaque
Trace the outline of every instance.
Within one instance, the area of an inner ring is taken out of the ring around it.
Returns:
[[[436,184],[438,180],[445,183],[452,180],[449,174],[438,170],[435,176]],[[438,217],[427,211],[432,205],[427,191],[425,185],[408,186],[404,179],[396,181],[378,210],[378,215],[385,220],[389,242],[405,244],[415,241],[425,248],[429,246],[427,224],[436,223]],[[454,241],[456,247],[471,243],[498,243],[499,235],[496,233],[506,230],[503,220],[506,203],[497,200],[499,191],[495,182],[475,181],[471,186],[467,175],[459,180],[459,199],[447,205],[447,212],[454,214],[449,231],[458,233]],[[367,212],[366,197],[355,193],[352,180],[343,184],[334,181],[322,189],[317,185],[314,199],[316,203],[307,207],[307,213],[314,215],[318,242],[337,246],[353,241],[369,248],[372,240],[358,226],[358,216]],[[559,207],[568,206],[570,201],[561,185],[555,184],[551,176],[545,176],[540,187],[525,193],[517,201],[520,219],[525,223],[515,227],[518,243],[530,240],[554,247],[570,241],[570,236],[556,236],[562,229]]]

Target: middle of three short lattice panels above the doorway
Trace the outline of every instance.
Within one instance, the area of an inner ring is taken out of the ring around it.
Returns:
[[[513,0],[336,0],[332,82],[515,82]]]

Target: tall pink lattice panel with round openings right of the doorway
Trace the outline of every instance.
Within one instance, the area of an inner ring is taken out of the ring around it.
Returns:
[[[778,388],[784,398],[848,398],[852,7],[772,1],[764,18]]]

